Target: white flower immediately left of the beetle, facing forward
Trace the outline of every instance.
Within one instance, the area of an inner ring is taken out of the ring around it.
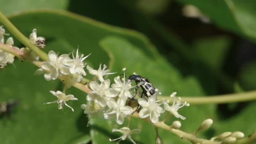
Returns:
[[[123,71],[125,71],[126,68],[123,68]],[[131,92],[129,91],[131,88],[136,87],[135,86],[131,86],[131,80],[128,80],[126,82],[125,80],[125,72],[123,75],[123,82],[120,80],[120,76],[117,76],[114,78],[115,83],[111,85],[111,87],[115,90],[119,92],[119,97],[121,96],[125,96],[127,98],[133,98],[133,95],[131,94]]]

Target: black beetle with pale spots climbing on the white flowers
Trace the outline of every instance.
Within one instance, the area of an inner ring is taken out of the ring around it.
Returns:
[[[136,86],[135,91],[137,94],[138,88],[141,87],[142,89],[141,97],[143,95],[147,97],[153,96],[158,91],[157,88],[154,88],[152,86],[152,84],[149,82],[147,78],[141,77],[140,75],[133,74],[130,77],[128,77],[128,80],[131,80],[131,81],[134,80],[137,85],[140,84],[139,86]]]

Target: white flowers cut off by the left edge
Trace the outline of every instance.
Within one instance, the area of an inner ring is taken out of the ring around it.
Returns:
[[[3,26],[0,26],[0,43],[3,43],[3,44],[5,42],[4,35],[7,35],[7,34],[5,34],[5,29],[3,29]],[[6,40],[5,44],[9,45],[12,48],[19,49],[19,48],[13,46],[14,41],[13,41],[12,37],[9,37]],[[7,53],[0,49],[0,68],[4,68],[7,64],[12,64],[14,61],[14,57],[15,56],[13,54]]]

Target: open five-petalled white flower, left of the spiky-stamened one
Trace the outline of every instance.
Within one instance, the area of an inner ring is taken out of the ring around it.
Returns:
[[[65,64],[70,61],[68,54],[59,56],[54,51],[48,53],[49,61],[45,61],[42,64],[42,69],[48,70],[52,80],[55,80],[59,75],[69,74],[69,67]]]

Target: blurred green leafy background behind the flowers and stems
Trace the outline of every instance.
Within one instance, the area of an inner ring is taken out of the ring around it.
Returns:
[[[255,8],[254,0],[0,0],[0,11],[24,35],[36,28],[38,36],[46,37],[45,52],[70,53],[79,45],[81,53],[92,53],[86,59],[90,66],[107,64],[118,74],[126,67],[127,75],[147,77],[165,96],[173,91],[210,96],[254,90]],[[15,45],[22,47],[16,39]],[[37,68],[29,62],[16,60],[14,65],[0,70],[0,101],[19,101],[10,115],[0,117],[1,144],[113,144],[108,139],[120,136],[111,130],[122,126],[102,115],[86,127],[88,119],[80,109],[86,94],[75,88],[67,91],[79,99],[69,102],[75,112],[43,105],[55,100],[49,91],[60,90],[61,82],[34,76]],[[254,101],[191,105],[180,110],[187,117],[181,130],[193,132],[212,118],[213,126],[200,137],[225,131],[247,136],[256,128],[255,109]],[[136,119],[131,123],[132,129],[141,128],[135,141],[154,144],[153,127]],[[165,144],[189,143],[159,133]]]

